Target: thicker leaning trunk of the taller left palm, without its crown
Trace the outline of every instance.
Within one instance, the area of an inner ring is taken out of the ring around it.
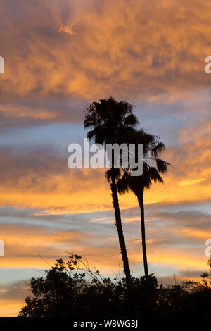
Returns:
[[[127,287],[129,287],[129,285],[131,284],[131,275],[130,275],[130,270],[129,270],[129,261],[127,258],[127,250],[126,250],[124,235],[123,235],[123,230],[122,230],[122,220],[121,220],[121,214],[120,214],[119,200],[118,200],[118,196],[117,196],[117,187],[115,185],[114,178],[112,178],[112,182],[110,184],[110,189],[112,192],[113,208],[115,210],[115,220],[116,220],[115,225],[117,227],[117,232],[118,232],[118,237],[119,237],[119,242],[120,242],[120,251],[122,254],[122,261],[123,261],[124,273],[125,273],[125,278],[126,278],[126,285],[127,285]]]

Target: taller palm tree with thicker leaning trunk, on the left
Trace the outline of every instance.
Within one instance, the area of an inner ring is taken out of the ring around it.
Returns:
[[[96,144],[103,144],[104,146],[106,144],[127,143],[127,137],[134,135],[135,126],[138,123],[136,116],[132,113],[133,107],[134,106],[126,101],[117,102],[112,97],[93,102],[89,108],[87,108],[84,119],[84,127],[91,128],[87,133],[87,138]],[[122,230],[122,220],[116,185],[119,176],[120,170],[114,168],[112,160],[111,169],[107,171],[106,177],[108,182],[110,182],[113,208],[115,211],[115,225],[119,237],[126,283],[129,287],[131,283],[131,275]]]

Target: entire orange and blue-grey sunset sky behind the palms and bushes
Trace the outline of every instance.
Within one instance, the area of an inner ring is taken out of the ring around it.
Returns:
[[[68,251],[103,275],[122,269],[105,171],[67,163],[87,134],[85,108],[108,96],[135,105],[172,164],[145,194],[150,273],[200,277],[211,239],[210,1],[1,0],[0,56],[0,316],[17,316],[25,282]],[[134,195],[120,208],[132,273],[143,275]]]

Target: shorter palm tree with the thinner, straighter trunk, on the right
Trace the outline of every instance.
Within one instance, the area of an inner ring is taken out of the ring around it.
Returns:
[[[145,189],[151,187],[152,182],[163,183],[160,173],[166,173],[167,165],[170,165],[170,163],[158,158],[158,156],[165,151],[165,145],[160,142],[159,137],[150,135],[143,130],[139,130],[134,135],[134,142],[136,142],[136,144],[143,144],[143,173],[141,176],[132,176],[131,168],[124,169],[122,177],[117,181],[117,190],[120,194],[125,194],[131,190],[138,199],[139,207],[141,209],[143,266],[145,276],[148,278],[143,192]]]

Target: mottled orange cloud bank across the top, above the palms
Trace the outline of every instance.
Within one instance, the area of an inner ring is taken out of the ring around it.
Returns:
[[[156,101],[210,86],[207,0],[36,4],[36,11],[24,4],[23,20],[22,1],[13,1],[17,15],[10,20],[1,1],[1,97],[115,94]]]

